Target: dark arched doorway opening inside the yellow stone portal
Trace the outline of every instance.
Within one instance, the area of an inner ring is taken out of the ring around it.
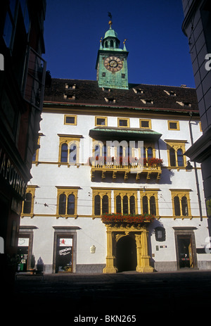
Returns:
[[[121,237],[117,242],[116,267],[118,272],[136,270],[136,240],[132,237]]]

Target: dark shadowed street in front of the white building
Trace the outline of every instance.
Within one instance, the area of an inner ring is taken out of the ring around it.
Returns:
[[[63,320],[87,322],[83,316],[96,316],[98,325],[109,325],[115,320],[105,320],[106,315],[191,320],[203,311],[210,313],[211,272],[155,272],[139,274],[53,274],[21,276],[15,281],[15,306],[17,313],[26,311],[34,318],[63,315]],[[80,320],[77,318],[81,318]],[[181,319],[182,318],[182,319]],[[204,319],[205,321],[205,319]],[[135,324],[124,320],[123,325]],[[127,323],[126,323],[127,322]]]

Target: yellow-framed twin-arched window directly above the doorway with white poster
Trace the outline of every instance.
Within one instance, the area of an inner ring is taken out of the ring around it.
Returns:
[[[79,187],[56,187],[57,209],[56,216],[77,218],[77,193]]]

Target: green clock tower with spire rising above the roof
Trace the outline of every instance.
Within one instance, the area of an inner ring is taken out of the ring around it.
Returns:
[[[98,87],[128,89],[126,40],[123,49],[120,49],[120,40],[111,27],[112,21],[108,24],[110,28],[101,39],[96,61]]]

